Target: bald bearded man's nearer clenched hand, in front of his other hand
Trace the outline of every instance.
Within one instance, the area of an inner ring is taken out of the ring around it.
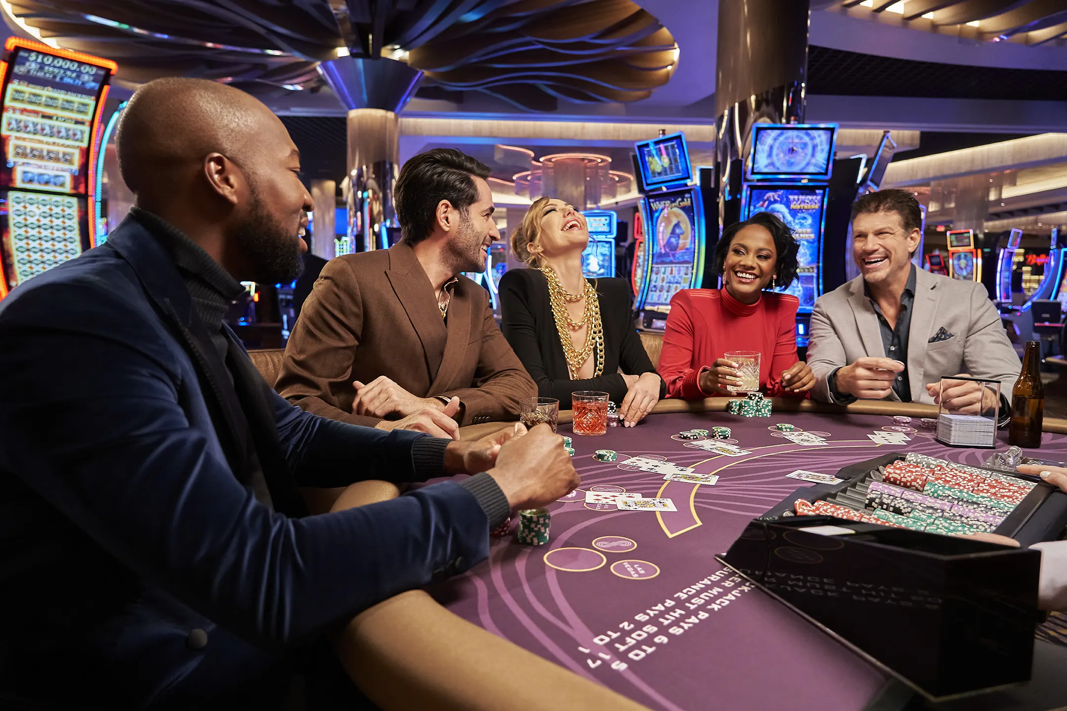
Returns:
[[[563,438],[544,423],[525,437],[505,442],[489,473],[508,498],[512,512],[552,503],[576,489],[582,481]]]

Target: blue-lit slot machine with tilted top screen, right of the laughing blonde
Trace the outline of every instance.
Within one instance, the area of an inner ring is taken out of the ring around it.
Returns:
[[[634,254],[634,286],[641,325],[667,326],[670,300],[681,289],[699,289],[704,275],[705,228],[700,188],[690,185],[692,165],[685,135],[671,133],[635,145],[642,239]],[[636,232],[635,232],[636,235]],[[643,268],[638,276],[636,271]],[[637,287],[639,291],[636,291]]]

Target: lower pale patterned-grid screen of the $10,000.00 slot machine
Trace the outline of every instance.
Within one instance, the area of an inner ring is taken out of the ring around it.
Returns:
[[[22,284],[81,254],[84,208],[82,198],[12,190],[7,193],[7,220],[3,239],[11,260],[5,273]]]

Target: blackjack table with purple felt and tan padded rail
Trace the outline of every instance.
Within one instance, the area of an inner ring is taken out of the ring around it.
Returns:
[[[350,675],[382,708],[904,708],[909,694],[885,668],[716,555],[753,518],[812,485],[792,472],[833,475],[892,452],[980,466],[1007,448],[1006,433],[996,450],[952,448],[921,426],[937,417],[929,405],[770,403],[770,417],[742,417],[724,411],[724,399],[666,401],[638,426],[600,436],[573,434],[561,413],[558,432],[572,438],[582,484],[547,506],[547,543],[520,543],[514,521],[491,539],[488,561],[363,613],[338,646]],[[716,426],[729,427],[717,441],[734,451],[708,449]],[[681,434],[704,430],[706,437]],[[879,436],[887,432],[893,443]],[[614,460],[598,458],[599,450]],[[1067,421],[1047,420],[1041,448],[1026,454],[1067,460]],[[634,457],[717,480],[668,479],[627,465]],[[669,499],[673,511],[622,510],[595,492]],[[1055,491],[1042,507],[1067,511],[1067,496]],[[958,708],[1067,705],[1056,672],[1067,655],[1052,647],[1036,650],[1029,684]]]

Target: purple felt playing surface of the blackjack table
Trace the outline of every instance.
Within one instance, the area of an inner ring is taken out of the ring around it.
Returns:
[[[777,422],[827,439],[795,445]],[[552,536],[529,547],[493,539],[490,560],[434,588],[453,613],[652,709],[862,709],[886,676],[715,560],[762,515],[807,482],[785,474],[917,451],[978,465],[992,450],[943,447],[918,427],[903,445],[867,434],[898,427],[890,416],[811,413],[742,418],[726,413],[652,415],[635,429],[573,435],[580,488],[548,506]],[[742,456],[686,447],[673,435],[727,425]],[[571,435],[569,425],[560,434]],[[1044,458],[1067,459],[1067,437],[1045,435]],[[1006,442],[1000,449],[1005,449]],[[599,449],[618,462],[592,458]],[[630,456],[664,458],[713,486],[627,469]],[[676,512],[623,512],[586,504],[585,491],[669,498]],[[512,529],[513,531],[514,529]],[[516,669],[515,674],[522,674]]]

